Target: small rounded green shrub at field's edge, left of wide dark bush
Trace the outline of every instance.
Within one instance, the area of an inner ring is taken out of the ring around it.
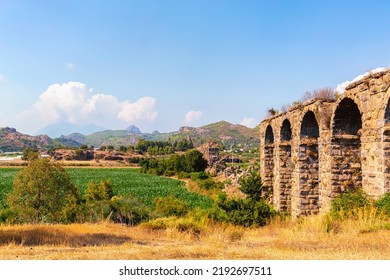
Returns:
[[[155,213],[159,216],[184,216],[188,213],[188,205],[173,195],[158,197],[154,201]]]

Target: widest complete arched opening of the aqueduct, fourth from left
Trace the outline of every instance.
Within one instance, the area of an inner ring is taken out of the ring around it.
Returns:
[[[352,99],[344,98],[333,117],[331,198],[362,185],[361,128],[359,107]]]

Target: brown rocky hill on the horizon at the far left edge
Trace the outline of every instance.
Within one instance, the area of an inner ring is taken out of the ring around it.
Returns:
[[[25,148],[50,149],[56,142],[47,135],[30,136],[16,131],[15,128],[0,128],[0,151],[19,152]]]

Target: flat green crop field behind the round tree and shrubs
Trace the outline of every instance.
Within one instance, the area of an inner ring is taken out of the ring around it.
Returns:
[[[12,182],[19,168],[0,169],[0,202],[12,190]],[[185,201],[190,208],[208,208],[212,205],[211,198],[189,192],[184,183],[178,180],[139,173],[130,168],[69,168],[66,169],[72,182],[84,194],[88,182],[111,180],[115,194],[129,195],[140,199],[145,205],[152,206],[156,197],[173,194]]]

